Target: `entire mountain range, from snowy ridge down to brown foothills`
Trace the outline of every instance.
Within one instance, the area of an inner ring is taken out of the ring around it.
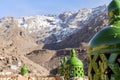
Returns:
[[[29,66],[30,73],[56,74],[60,60],[76,48],[87,75],[87,44],[107,23],[106,6],[59,16],[4,17],[0,19],[0,69],[19,73],[21,63]]]

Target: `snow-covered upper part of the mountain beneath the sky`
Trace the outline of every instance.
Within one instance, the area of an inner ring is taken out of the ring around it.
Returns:
[[[37,43],[57,43],[83,28],[92,19],[106,12],[106,5],[77,12],[64,12],[56,15],[36,15],[19,18],[0,19],[0,26],[9,25],[16,20],[18,26],[35,38]]]

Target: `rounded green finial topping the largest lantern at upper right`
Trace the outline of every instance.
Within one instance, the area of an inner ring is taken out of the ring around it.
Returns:
[[[110,17],[110,23],[120,20],[120,0],[112,0],[108,6],[108,16]]]

